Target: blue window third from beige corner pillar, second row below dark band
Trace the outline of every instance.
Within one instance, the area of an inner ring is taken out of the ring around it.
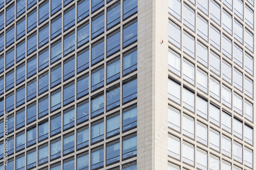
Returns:
[[[104,122],[96,123],[91,127],[91,143],[103,140],[104,138]]]

